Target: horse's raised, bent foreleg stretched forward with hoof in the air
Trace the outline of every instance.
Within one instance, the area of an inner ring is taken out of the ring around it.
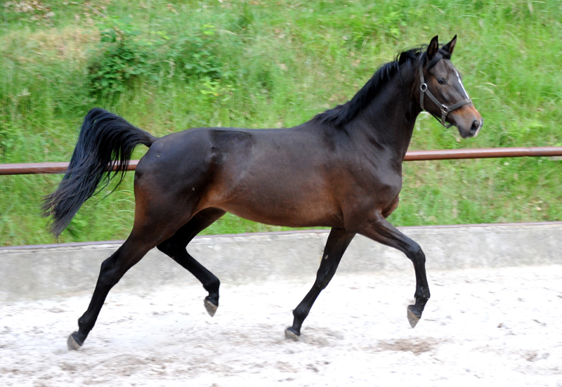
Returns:
[[[360,228],[359,233],[372,240],[386,244],[402,251],[414,264],[416,274],[416,291],[414,305],[407,307],[407,319],[414,328],[421,318],[427,301],[429,300],[429,285],[426,277],[426,256],[419,244],[398,231],[391,223],[388,223],[380,212],[375,212],[368,218],[368,223]]]

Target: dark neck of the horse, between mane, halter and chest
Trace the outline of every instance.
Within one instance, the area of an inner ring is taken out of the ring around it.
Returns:
[[[414,98],[414,71],[403,66],[349,122],[348,133],[377,150],[391,150],[402,162],[421,112]],[[398,161],[398,160],[397,160]]]

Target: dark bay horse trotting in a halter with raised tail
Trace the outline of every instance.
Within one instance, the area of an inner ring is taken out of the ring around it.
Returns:
[[[425,256],[386,217],[398,206],[402,162],[418,114],[426,110],[463,138],[483,120],[466,95],[450,58],[457,37],[405,51],[382,66],[344,105],[291,129],[200,128],[155,138],[102,109],[84,119],[63,181],[43,204],[60,235],[100,183],[120,183],[138,144],[150,147],[135,173],[131,235],[101,265],[96,289],[70,349],[86,340],[110,289],[152,248],[170,256],[203,284],[210,315],[218,307],[218,278],[186,251],[188,243],[226,211],[251,221],[289,227],[332,228],[311,291],[293,311],[288,338],[332,279],[355,234],[394,247],[416,275],[415,326],[429,299]],[[114,172],[108,172],[114,171]],[[280,257],[281,258],[281,257]]]

